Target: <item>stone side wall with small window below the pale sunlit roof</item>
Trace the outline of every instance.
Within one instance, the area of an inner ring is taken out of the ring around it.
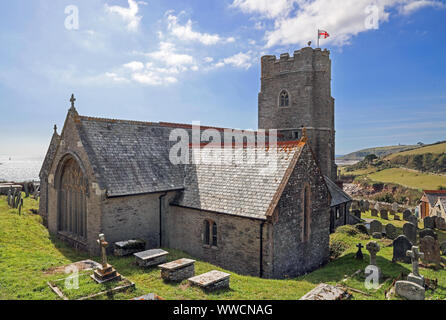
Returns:
[[[260,226],[262,221],[202,212],[200,210],[172,206],[166,214],[167,230],[165,246],[185,251],[192,256],[216,264],[222,268],[244,274],[260,275]],[[204,221],[217,223],[218,246],[203,244]],[[264,269],[268,268],[268,242],[270,224],[265,223],[263,232]],[[270,264],[270,263],[269,263]]]

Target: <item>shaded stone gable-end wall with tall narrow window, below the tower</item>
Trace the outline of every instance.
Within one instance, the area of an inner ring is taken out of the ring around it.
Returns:
[[[309,184],[309,240],[303,237],[303,189]],[[325,264],[329,258],[330,195],[306,145],[280,198],[273,225],[274,278],[296,277]]]

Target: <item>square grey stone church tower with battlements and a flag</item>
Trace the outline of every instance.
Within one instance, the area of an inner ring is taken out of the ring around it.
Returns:
[[[337,179],[330,52],[310,47],[263,56],[259,129],[277,129],[279,140],[297,140],[302,129],[322,173]]]

